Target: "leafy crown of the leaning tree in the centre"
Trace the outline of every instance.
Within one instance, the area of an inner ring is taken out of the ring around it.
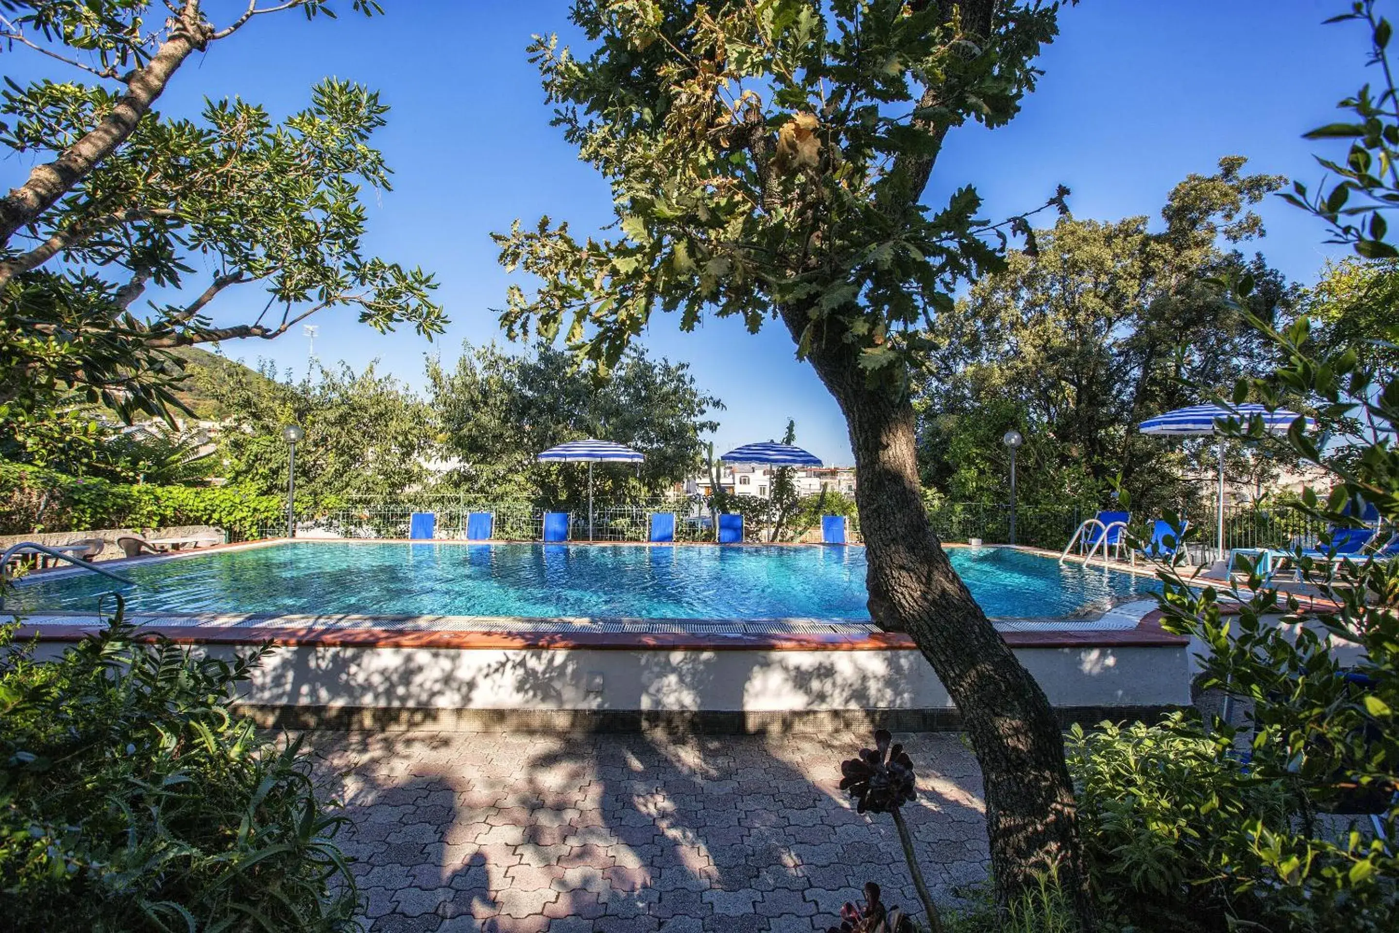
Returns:
[[[565,138],[610,182],[621,238],[581,241],[551,222],[497,235],[501,264],[539,283],[508,292],[502,326],[567,333],[606,369],[656,312],[683,329],[704,313],[750,330],[783,316],[799,355],[856,343],[870,379],[904,390],[915,357],[902,337],[992,267],[1004,239],[975,217],[970,187],[930,215],[925,169],[947,127],[1014,115],[1055,32],[1052,6],[982,13],[575,4],[586,55],[551,38],[530,56]]]

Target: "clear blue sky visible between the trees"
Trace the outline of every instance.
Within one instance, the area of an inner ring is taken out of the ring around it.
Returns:
[[[213,8],[242,3],[211,3]],[[378,88],[393,109],[375,137],[395,169],[395,189],[368,197],[368,248],[436,273],[452,325],[428,343],[411,332],[378,336],[353,315],[319,315],[316,354],[362,366],[381,361],[421,385],[424,354],[450,362],[463,340],[501,339],[491,308],[506,276],[491,231],[519,217],[604,224],[609,193],[548,124],[537,73],[525,59],[536,32],[568,36],[567,4],[529,0],[385,0],[364,20],[341,0],[339,20],[297,13],[263,17],[189,62],[161,101],[168,113],[197,111],[206,95],[241,95],[284,115],[299,109],[325,76]],[[964,183],[986,199],[988,217],[1037,206],[1058,183],[1073,189],[1079,217],[1157,215],[1171,186],[1213,171],[1221,155],[1249,168],[1315,182],[1314,144],[1301,133],[1329,122],[1335,102],[1365,78],[1365,36],[1354,25],[1322,27],[1343,0],[1087,0],[1063,13],[1059,41],[1041,59],[1045,76],[1009,127],[968,127],[950,137],[929,203]],[[6,74],[56,73],[34,56],[7,56]],[[42,69],[42,70],[41,70]],[[0,172],[14,185],[27,165]],[[1321,227],[1281,201],[1262,210],[1260,245],[1287,276],[1311,283],[1325,257]],[[256,315],[255,292],[228,295],[218,320]],[[733,320],[683,334],[658,316],[645,336],[656,355],[691,364],[698,382],[727,404],[719,449],[781,435],[796,418],[797,441],[828,463],[851,460],[839,410],[795,359],[786,333],[750,336]],[[304,372],[306,341],[228,343],[227,355],[259,357]]]

